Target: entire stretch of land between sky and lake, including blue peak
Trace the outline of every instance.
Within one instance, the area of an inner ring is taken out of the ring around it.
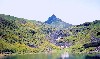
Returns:
[[[100,20],[66,24],[55,15],[43,23],[0,14],[0,53],[100,52]]]

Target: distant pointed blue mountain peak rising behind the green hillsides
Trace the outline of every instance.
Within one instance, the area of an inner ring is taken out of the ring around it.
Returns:
[[[48,18],[47,21],[45,21],[44,23],[51,25],[54,28],[68,28],[70,26],[72,26],[72,24],[66,23],[64,21],[62,21],[61,19],[57,18],[54,14]]]

